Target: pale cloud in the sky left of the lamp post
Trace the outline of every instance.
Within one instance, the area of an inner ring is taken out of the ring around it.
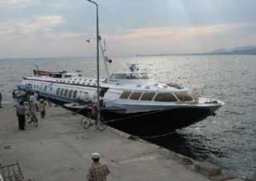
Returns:
[[[55,26],[64,22],[62,16],[38,16],[31,20],[4,21],[0,25],[0,36],[5,38],[20,38],[45,34],[52,31]]]

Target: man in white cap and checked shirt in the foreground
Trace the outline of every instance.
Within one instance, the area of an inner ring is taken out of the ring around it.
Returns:
[[[107,175],[110,174],[107,165],[102,165],[100,162],[100,154],[92,153],[92,165],[88,170],[88,181],[107,181]]]

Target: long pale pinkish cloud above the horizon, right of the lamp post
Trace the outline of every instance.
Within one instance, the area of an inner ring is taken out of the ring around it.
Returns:
[[[132,53],[204,53],[218,47],[244,44],[244,28],[251,24],[220,24],[188,27],[149,27],[140,28],[124,34],[107,34],[111,44],[121,44]],[[243,36],[242,36],[243,35]],[[118,47],[116,47],[118,49]]]

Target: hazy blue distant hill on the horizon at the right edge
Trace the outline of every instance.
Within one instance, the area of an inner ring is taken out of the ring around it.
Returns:
[[[256,54],[256,46],[235,47],[233,49],[216,49],[211,54]]]

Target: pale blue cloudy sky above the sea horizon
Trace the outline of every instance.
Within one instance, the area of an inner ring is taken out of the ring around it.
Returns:
[[[256,45],[256,0],[96,2],[112,56]],[[93,56],[95,37],[96,8],[87,0],[0,0],[0,58]]]

